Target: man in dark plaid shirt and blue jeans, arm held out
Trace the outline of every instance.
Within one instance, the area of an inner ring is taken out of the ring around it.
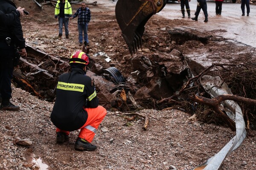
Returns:
[[[70,17],[70,20],[73,20],[78,16],[78,33],[79,33],[79,45],[83,44],[83,31],[84,31],[84,44],[89,45],[88,40],[88,24],[90,23],[91,14],[90,9],[86,6],[85,2],[81,2],[81,7],[77,9],[76,13]]]

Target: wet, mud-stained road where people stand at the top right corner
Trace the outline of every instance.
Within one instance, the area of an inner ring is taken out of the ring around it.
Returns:
[[[196,0],[189,2],[191,17],[194,17],[197,6]],[[223,29],[225,31],[214,33],[218,36],[230,39],[231,41],[240,42],[245,45],[250,45],[256,48],[256,6],[250,5],[250,16],[241,16],[241,3],[223,3],[221,15],[215,14],[215,2],[207,1],[208,11],[208,23],[204,23],[204,13],[201,10],[198,21],[192,21],[191,19],[181,18],[180,3],[168,3],[160,11],[159,15],[166,17],[170,20],[180,19],[195,22],[192,24],[192,28],[196,28],[199,31],[212,31],[217,29]],[[246,13],[246,8],[245,8]],[[184,26],[186,27],[186,26]],[[188,27],[191,27],[189,24]]]

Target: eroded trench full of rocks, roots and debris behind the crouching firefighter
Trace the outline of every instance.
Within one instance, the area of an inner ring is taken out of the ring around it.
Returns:
[[[170,42],[182,45],[189,40],[207,44],[208,38],[186,31],[169,31]],[[21,58],[19,68],[14,71],[14,82],[42,100],[54,101],[58,76],[70,70],[68,58],[46,54],[29,44],[26,44],[26,50],[28,57]],[[175,49],[168,53],[137,53],[124,57],[119,69],[107,62],[108,56],[104,52],[90,54],[90,57],[87,75],[94,79],[100,104],[120,111],[168,107],[168,103],[159,104],[158,101],[175,94],[192,77],[192,71],[202,69],[202,65],[187,61]]]

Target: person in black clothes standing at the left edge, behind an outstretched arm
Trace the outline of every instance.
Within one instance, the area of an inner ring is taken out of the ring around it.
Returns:
[[[0,0],[0,11],[4,14],[12,14],[16,6],[12,1]],[[20,106],[10,102],[12,98],[11,80],[15,64],[19,60],[17,49],[20,48],[20,56],[26,57],[25,40],[23,38],[20,18],[15,17],[14,23],[0,25],[0,94],[1,110],[18,111]]]

